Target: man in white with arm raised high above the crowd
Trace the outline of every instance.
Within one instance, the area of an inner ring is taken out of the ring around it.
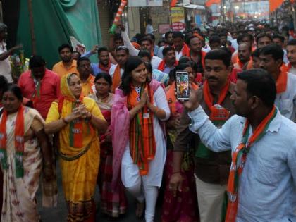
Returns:
[[[140,50],[136,49],[133,45],[132,42],[130,42],[130,38],[128,37],[128,33],[125,32],[125,27],[121,26],[121,37],[123,37],[123,42],[126,47],[128,47],[128,50],[130,51],[130,56],[137,56],[140,52]],[[140,39],[140,46],[141,50],[147,50],[151,51],[152,54],[152,61],[151,65],[152,68],[158,68],[159,63],[161,63],[161,58],[157,56],[153,56],[153,41],[149,37],[143,37]]]

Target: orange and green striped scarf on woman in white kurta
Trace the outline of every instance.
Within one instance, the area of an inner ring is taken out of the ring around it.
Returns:
[[[132,86],[131,86],[132,87]],[[149,85],[141,87],[140,94],[134,87],[128,95],[128,109],[134,108],[146,90],[149,92],[149,101],[153,104],[153,93]],[[149,172],[149,161],[155,156],[156,142],[153,132],[153,113],[147,106],[139,111],[135,118],[130,121],[130,156],[132,161],[139,167],[140,175],[147,175]]]

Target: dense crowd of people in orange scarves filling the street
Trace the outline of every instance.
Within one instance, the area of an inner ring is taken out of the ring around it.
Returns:
[[[16,78],[9,56],[22,46],[7,50],[0,24],[1,221],[39,221],[39,183],[56,206],[56,160],[67,221],[95,221],[97,186],[110,218],[129,192],[147,222],[158,199],[162,222],[296,221],[294,33],[225,23],[156,44],[119,27],[108,47],[61,44],[51,70],[34,55]]]

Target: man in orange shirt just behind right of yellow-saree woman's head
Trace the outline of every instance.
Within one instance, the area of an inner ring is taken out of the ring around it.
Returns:
[[[92,75],[92,66],[90,59],[87,57],[80,57],[77,61],[77,70],[82,85],[82,94],[87,97],[94,93],[94,75]]]

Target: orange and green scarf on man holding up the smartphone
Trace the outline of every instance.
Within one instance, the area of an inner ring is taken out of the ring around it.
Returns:
[[[261,121],[249,140],[249,121],[247,120],[245,123],[245,127],[242,132],[242,142],[238,145],[238,147],[236,147],[232,156],[227,187],[228,206],[226,211],[226,222],[235,222],[236,214],[238,212],[238,183],[247,160],[247,154],[249,153],[252,145],[265,135],[267,129],[269,128],[269,124],[273,121],[273,118],[275,118],[276,113],[276,106],[273,106],[269,115]]]

